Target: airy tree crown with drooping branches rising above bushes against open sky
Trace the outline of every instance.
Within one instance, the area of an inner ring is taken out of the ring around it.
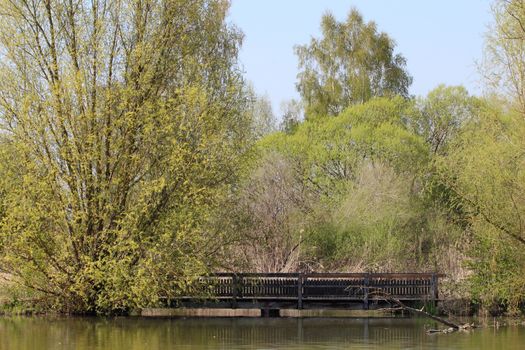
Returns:
[[[374,22],[366,23],[353,9],[346,21],[327,13],[320,39],[297,46],[300,72],[297,89],[306,116],[338,115],[351,104],[372,97],[408,96],[412,77],[406,59],[394,53],[395,43]]]

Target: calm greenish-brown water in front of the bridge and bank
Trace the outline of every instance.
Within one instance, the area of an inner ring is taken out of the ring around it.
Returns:
[[[525,349],[525,327],[427,335],[422,319],[0,317],[0,350]]]

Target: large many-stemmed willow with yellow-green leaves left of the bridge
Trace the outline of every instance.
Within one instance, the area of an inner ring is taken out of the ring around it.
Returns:
[[[73,312],[185,291],[245,149],[222,0],[0,1],[1,271]]]

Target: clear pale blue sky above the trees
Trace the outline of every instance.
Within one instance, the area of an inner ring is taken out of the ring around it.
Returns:
[[[244,33],[241,62],[260,94],[279,116],[282,100],[297,98],[293,47],[319,37],[322,14],[339,20],[355,7],[397,43],[414,77],[411,93],[426,95],[438,84],[480,92],[476,62],[491,21],[489,0],[233,0],[230,21]]]

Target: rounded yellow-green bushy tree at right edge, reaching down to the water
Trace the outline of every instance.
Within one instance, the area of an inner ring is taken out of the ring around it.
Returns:
[[[525,122],[491,101],[438,160],[441,181],[463,208],[474,238],[473,293],[513,310],[525,298]]]

